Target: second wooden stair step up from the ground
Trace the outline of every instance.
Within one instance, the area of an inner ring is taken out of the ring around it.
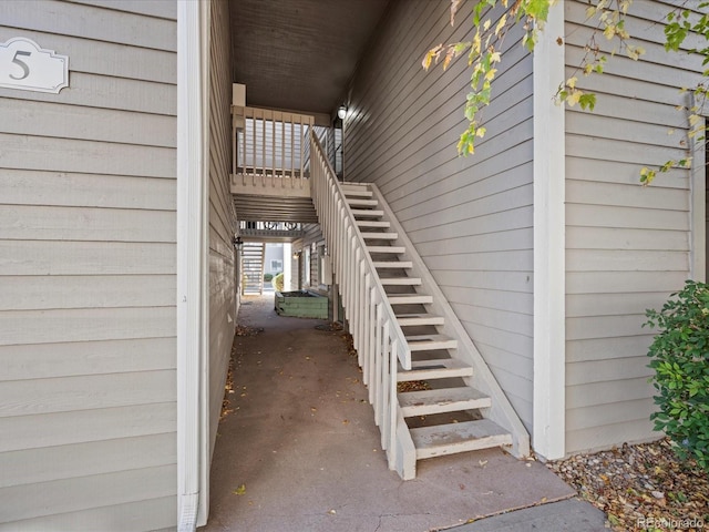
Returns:
[[[397,397],[404,418],[492,406],[490,397],[469,386],[440,390],[404,391],[398,393]]]

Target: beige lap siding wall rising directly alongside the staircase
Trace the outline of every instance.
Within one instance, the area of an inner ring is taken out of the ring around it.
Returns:
[[[470,70],[425,51],[470,34],[445,2],[394,3],[351,86],[345,176],[382,190],[527,428],[532,423],[532,61],[510,34],[475,154],[455,145]]]

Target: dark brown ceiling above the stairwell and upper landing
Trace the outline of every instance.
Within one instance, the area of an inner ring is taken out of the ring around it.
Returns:
[[[390,0],[230,0],[232,81],[247,105],[331,112]]]

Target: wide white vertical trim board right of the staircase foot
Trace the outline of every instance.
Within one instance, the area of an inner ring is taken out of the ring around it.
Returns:
[[[565,454],[565,127],[553,95],[564,78],[564,2],[534,51],[534,391],[532,443]]]

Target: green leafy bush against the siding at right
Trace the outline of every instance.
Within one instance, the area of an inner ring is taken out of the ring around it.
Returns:
[[[665,431],[679,458],[709,471],[709,285],[688,280],[660,311],[646,315],[645,325],[659,329],[648,351],[659,392],[655,430]]]

